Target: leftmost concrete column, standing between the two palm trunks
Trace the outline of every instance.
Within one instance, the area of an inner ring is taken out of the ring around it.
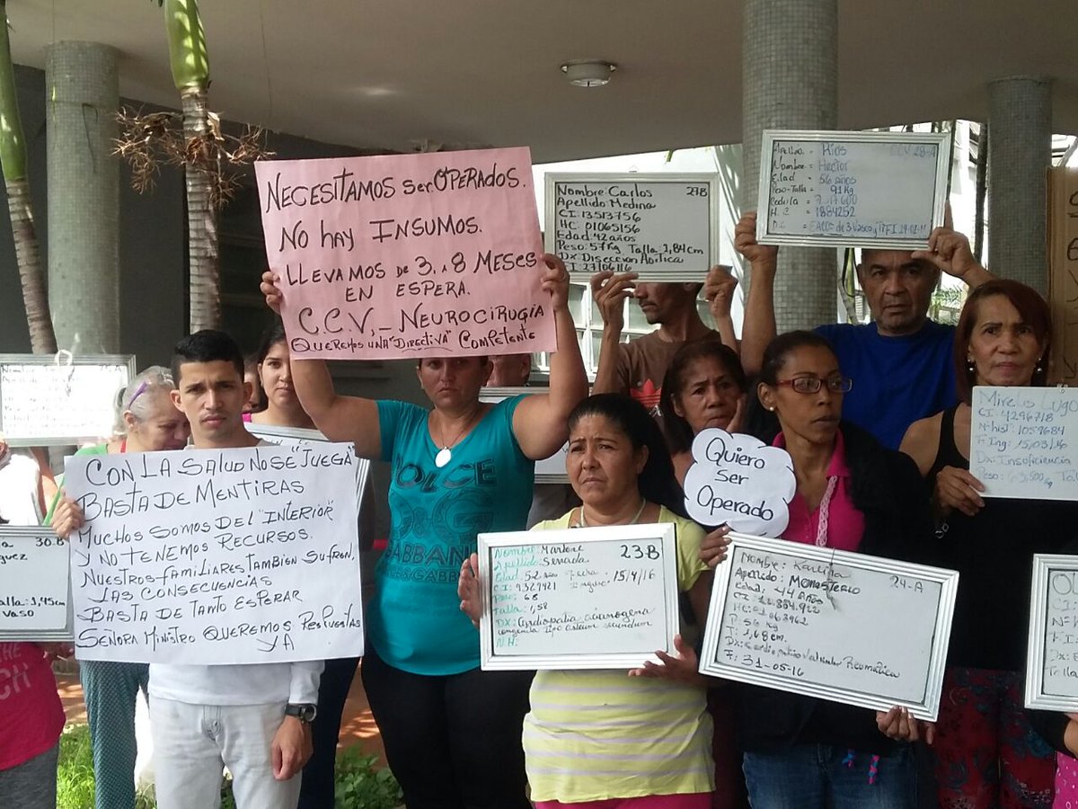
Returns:
[[[60,348],[120,351],[120,164],[113,156],[116,52],[57,42],[45,52],[49,304]]]

